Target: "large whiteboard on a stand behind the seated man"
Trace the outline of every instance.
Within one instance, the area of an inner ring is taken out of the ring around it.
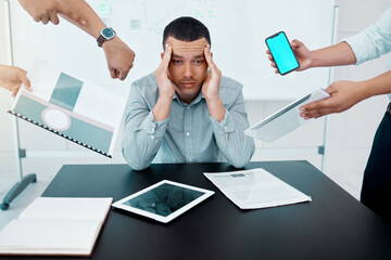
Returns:
[[[15,65],[28,68],[34,56],[77,78],[127,95],[134,80],[155,70],[162,52],[164,27],[179,16],[202,21],[211,32],[214,61],[223,75],[243,83],[245,100],[295,100],[326,88],[328,68],[276,75],[265,54],[265,38],[286,31],[310,50],[331,44],[335,0],[88,0],[135,52],[125,81],[113,80],[103,50],[96,40],[65,21],[35,23],[11,0]]]

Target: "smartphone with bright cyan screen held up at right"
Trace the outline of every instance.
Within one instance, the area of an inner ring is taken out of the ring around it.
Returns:
[[[265,42],[275,60],[280,75],[286,75],[300,66],[298,58],[289,44],[287,35],[283,31],[267,37]]]

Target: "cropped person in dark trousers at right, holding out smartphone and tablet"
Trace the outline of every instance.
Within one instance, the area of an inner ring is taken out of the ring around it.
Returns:
[[[388,9],[375,25],[336,46],[315,51],[310,51],[298,40],[293,40],[291,46],[300,63],[298,70],[362,64],[391,51],[391,9]],[[267,54],[272,66],[276,67],[269,51]],[[303,106],[302,117],[318,118],[341,113],[379,94],[389,94],[391,101],[391,72],[364,81],[336,81],[326,91],[331,98]],[[361,202],[391,222],[391,103],[375,134],[364,172]]]

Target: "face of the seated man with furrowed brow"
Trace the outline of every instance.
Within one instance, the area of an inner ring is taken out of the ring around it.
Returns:
[[[207,63],[204,48],[207,41],[201,38],[187,42],[168,37],[166,43],[173,49],[168,76],[175,84],[178,96],[185,102],[191,102],[206,77]]]

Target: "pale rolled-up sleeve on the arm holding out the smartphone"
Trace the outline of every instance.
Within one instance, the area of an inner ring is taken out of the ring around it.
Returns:
[[[352,48],[356,56],[355,65],[389,53],[391,51],[391,8],[381,15],[376,24],[344,41]],[[391,101],[391,94],[389,94],[389,99]]]

